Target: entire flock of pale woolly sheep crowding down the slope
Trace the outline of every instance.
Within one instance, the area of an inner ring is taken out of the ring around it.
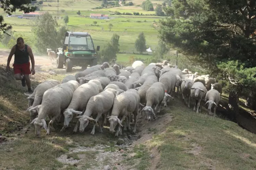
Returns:
[[[188,107],[192,99],[194,111],[197,108],[198,113],[202,100],[205,100],[208,113],[211,114],[214,106],[215,114],[222,93],[221,84],[209,75],[197,74],[188,69],[181,71],[166,60],[148,66],[142,61],[134,61],[126,68],[118,64],[110,67],[104,62],[75,75],[67,75],[61,83],[56,80],[40,83],[33,94],[25,93],[27,111],[35,126],[35,135],[39,135],[42,128],[50,134],[54,122],[61,123],[61,131],[64,131],[71,126],[71,121],[76,123],[74,132],[79,124],[79,131],[83,132],[89,122],[93,123],[91,134],[95,134],[96,124],[102,132],[107,119],[109,130],[115,131],[115,136],[122,134],[122,127],[124,131],[130,131],[133,120],[135,133],[138,118],[155,119],[161,105],[166,107],[169,100],[174,99],[175,87]],[[48,127],[47,118],[50,120]]]

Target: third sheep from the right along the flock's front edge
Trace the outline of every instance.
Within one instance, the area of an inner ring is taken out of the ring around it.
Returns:
[[[190,108],[190,88],[194,84],[193,80],[185,79],[181,83],[181,94],[188,108]]]

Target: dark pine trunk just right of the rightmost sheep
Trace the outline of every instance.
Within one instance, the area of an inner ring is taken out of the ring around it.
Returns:
[[[229,93],[229,116],[231,121],[236,122],[235,115],[239,114],[239,97],[242,91],[242,86],[233,85],[233,89]]]

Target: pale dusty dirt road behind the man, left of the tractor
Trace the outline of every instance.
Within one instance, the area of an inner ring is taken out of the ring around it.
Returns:
[[[6,65],[9,53],[10,53],[10,51],[8,51],[8,50],[0,49],[0,64],[1,65]],[[48,73],[49,71],[53,71],[57,74],[66,74],[65,66],[63,66],[63,69],[57,69],[56,61],[53,61],[53,60],[51,61],[49,59],[49,57],[47,56],[47,54],[45,56],[35,55],[34,57],[35,57],[36,73],[43,73],[43,72]],[[14,62],[14,56],[12,57],[12,60],[10,62],[11,68],[12,68],[13,62]],[[82,69],[81,67],[73,67],[71,74],[81,71],[81,69]]]

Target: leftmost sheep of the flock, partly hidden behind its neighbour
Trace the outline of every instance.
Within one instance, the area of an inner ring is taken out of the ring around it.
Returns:
[[[36,109],[32,109],[37,105],[41,104],[42,97],[46,90],[60,84],[57,80],[46,80],[40,83],[33,91],[31,95],[24,93],[27,96],[28,100],[28,108],[26,111],[29,111],[30,121],[32,122],[34,118],[36,118],[38,112]]]

